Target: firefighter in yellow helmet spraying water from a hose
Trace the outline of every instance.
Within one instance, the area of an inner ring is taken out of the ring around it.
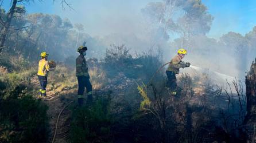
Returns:
[[[171,94],[173,95],[177,94],[176,74],[179,74],[181,67],[185,68],[190,66],[189,62],[185,63],[182,61],[182,59],[186,54],[187,54],[187,51],[185,49],[179,49],[177,52],[177,55],[175,55],[174,58],[170,61],[168,65],[168,69],[166,70],[166,76],[167,76],[166,87],[172,91]]]

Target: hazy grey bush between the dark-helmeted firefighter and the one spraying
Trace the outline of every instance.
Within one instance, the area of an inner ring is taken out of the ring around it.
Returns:
[[[161,58],[160,51],[154,54],[153,50],[149,50],[133,57],[125,45],[111,45],[103,58],[103,69],[110,78],[122,72],[128,78],[148,81],[162,65]]]

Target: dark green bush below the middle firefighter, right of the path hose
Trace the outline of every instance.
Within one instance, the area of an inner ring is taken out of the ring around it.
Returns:
[[[111,142],[110,101],[100,98],[92,106],[73,110],[71,142]]]

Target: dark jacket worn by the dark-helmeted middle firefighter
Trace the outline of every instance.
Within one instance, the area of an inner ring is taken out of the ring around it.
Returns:
[[[76,58],[76,76],[88,76],[88,65],[82,54]]]

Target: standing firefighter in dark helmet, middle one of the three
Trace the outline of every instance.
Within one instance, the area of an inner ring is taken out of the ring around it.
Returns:
[[[78,80],[78,104],[79,106],[83,105],[84,102],[84,88],[86,87],[87,90],[87,102],[88,104],[91,104],[92,102],[92,85],[90,82],[90,76],[88,74],[88,65],[86,58],[86,46],[80,46],[77,49],[77,52],[80,54],[76,58],[76,77]]]

